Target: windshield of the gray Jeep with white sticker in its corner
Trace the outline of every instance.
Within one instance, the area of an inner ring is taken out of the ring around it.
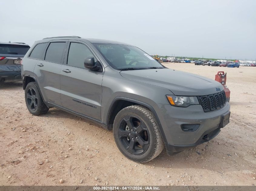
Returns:
[[[154,58],[135,46],[93,43],[108,64],[117,70],[165,68]]]

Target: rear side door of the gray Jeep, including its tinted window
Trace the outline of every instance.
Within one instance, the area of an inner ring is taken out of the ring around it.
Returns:
[[[42,60],[35,65],[34,73],[45,101],[61,106],[60,69],[68,40],[52,40],[47,44]]]

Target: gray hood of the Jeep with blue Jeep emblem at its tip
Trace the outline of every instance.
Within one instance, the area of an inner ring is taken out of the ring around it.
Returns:
[[[188,72],[169,68],[121,71],[124,78],[170,90],[174,95],[202,96],[224,90],[221,83]]]

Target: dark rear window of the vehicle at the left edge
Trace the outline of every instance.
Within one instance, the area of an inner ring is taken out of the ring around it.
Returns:
[[[0,44],[0,54],[25,55],[29,48],[26,45]]]

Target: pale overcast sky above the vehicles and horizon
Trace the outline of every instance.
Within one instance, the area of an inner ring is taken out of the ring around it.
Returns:
[[[129,43],[153,55],[256,59],[256,0],[0,1],[0,41],[53,36]]]

